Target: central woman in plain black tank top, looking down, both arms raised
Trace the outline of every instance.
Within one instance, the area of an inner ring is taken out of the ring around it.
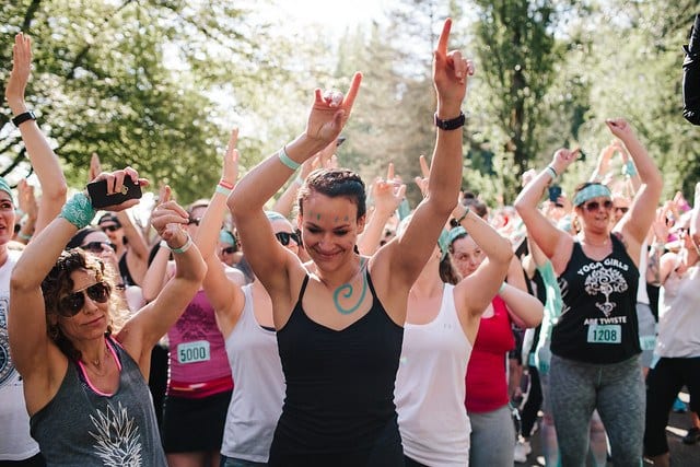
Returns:
[[[287,396],[269,465],[400,466],[394,381],[412,282],[433,252],[462,182],[460,112],[471,63],[447,54],[451,21],[435,52],[438,141],[429,194],[406,232],[372,257],[355,253],[365,224],[361,178],[313,172],[299,192],[306,267],[279,245],[262,212],[302,162],[336,144],[362,79],[347,96],[315,93],[306,130],[241,179],[229,207],[246,258],[273,306]]]

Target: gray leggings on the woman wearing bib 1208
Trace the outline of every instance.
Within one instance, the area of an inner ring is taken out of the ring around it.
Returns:
[[[612,464],[641,465],[645,392],[639,355],[607,365],[552,355],[549,384],[562,467],[585,466],[594,409],[608,433]]]

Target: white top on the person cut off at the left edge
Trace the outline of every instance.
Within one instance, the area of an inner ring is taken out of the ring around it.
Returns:
[[[8,336],[10,275],[20,253],[8,250],[8,260],[0,266],[0,460],[24,460],[39,452],[30,436],[22,377],[12,363]]]

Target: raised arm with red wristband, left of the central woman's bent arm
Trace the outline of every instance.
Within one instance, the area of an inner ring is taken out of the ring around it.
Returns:
[[[231,131],[226,153],[223,156],[221,180],[217,185],[195,236],[195,244],[199,247],[202,259],[207,264],[207,276],[205,276],[202,288],[214,308],[217,324],[224,338],[233,330],[245,304],[241,287],[229,279],[224,272],[223,262],[219,260],[215,253],[221,224],[226,211],[226,197],[231,194],[238,177],[237,140],[238,129],[234,128]]]

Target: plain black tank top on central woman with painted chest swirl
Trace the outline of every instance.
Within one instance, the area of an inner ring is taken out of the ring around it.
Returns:
[[[287,397],[270,466],[404,465],[394,406],[404,329],[364,273],[372,307],[347,328],[330,329],[306,315],[306,276],[288,323],[277,331]]]

